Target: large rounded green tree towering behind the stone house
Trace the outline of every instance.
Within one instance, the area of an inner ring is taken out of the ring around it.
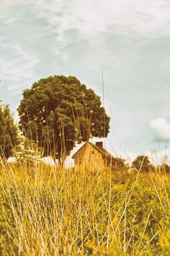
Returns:
[[[18,107],[21,129],[44,148],[44,155],[62,159],[75,142],[106,137],[110,118],[100,97],[74,76],[49,76],[25,89]]]

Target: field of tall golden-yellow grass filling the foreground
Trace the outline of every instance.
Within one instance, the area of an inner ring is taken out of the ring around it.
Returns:
[[[168,175],[0,167],[0,255],[170,255]]]

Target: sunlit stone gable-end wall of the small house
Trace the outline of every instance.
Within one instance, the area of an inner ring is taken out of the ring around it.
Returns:
[[[90,143],[86,143],[74,156],[74,168],[76,170],[95,171],[104,168],[102,153],[93,148]]]

